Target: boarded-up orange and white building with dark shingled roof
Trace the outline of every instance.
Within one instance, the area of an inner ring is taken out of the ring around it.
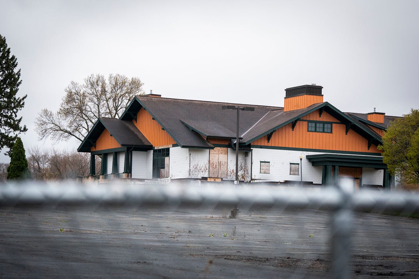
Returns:
[[[240,181],[389,187],[377,146],[396,117],[341,112],[322,88],[287,88],[283,108],[240,111]],[[135,96],[120,119],[98,119],[78,151],[91,153],[91,176],[101,156],[102,179],[233,181],[236,110],[222,106],[249,105]]]

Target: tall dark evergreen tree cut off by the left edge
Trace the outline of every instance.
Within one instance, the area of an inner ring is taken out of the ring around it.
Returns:
[[[5,154],[9,156],[18,134],[28,130],[26,126],[21,126],[22,117],[17,118],[27,95],[16,97],[22,83],[21,70],[15,70],[18,66],[16,60],[14,55],[10,56],[6,38],[0,35],[0,149],[8,147],[9,151]]]

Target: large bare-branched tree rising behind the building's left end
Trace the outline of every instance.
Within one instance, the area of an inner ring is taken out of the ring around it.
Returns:
[[[57,112],[42,109],[35,121],[39,140],[55,142],[74,137],[80,142],[99,117],[119,118],[135,95],[142,95],[139,78],[124,75],[90,75],[83,84],[72,81]]]

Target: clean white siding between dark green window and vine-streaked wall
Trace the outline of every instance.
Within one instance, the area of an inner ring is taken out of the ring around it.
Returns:
[[[187,178],[189,167],[189,149],[180,146],[171,147],[169,151],[169,177],[172,179]]]

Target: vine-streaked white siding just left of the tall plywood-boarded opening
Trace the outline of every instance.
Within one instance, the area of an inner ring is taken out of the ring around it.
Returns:
[[[201,178],[209,176],[209,150],[189,148],[188,177]]]

